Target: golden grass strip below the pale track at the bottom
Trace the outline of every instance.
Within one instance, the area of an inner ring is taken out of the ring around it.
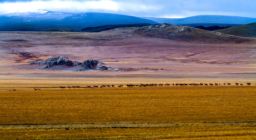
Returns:
[[[1,140],[63,140],[63,139],[255,139],[256,123],[174,123],[143,124],[141,126],[97,126],[97,127],[42,127],[5,126],[1,128]]]

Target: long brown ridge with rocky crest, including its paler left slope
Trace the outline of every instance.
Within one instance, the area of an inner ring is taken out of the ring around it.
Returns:
[[[116,28],[113,30],[103,31],[90,34],[76,34],[68,36],[71,39],[91,39],[91,40],[114,40],[127,39],[131,35],[140,35],[142,37],[170,39],[177,41],[199,41],[199,42],[234,42],[244,43],[251,42],[254,39],[235,37],[220,32],[211,32],[189,26],[177,26],[169,24],[149,25],[140,28]]]

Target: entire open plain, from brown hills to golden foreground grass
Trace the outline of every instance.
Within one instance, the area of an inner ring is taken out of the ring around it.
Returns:
[[[118,69],[29,65],[57,55]],[[0,139],[255,139],[255,60],[255,38],[188,26],[0,32]]]

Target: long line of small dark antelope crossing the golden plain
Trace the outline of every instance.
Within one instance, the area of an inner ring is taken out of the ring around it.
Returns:
[[[231,83],[229,83],[229,82],[227,82],[227,83],[224,83],[223,85],[225,86],[227,84],[227,86],[231,86]],[[235,83],[236,84],[236,86],[243,86],[243,84],[239,84],[239,83]],[[247,82],[246,83],[248,86],[251,86],[251,83],[249,83],[249,82]],[[220,86],[221,84],[220,83],[209,83],[209,86],[213,86],[213,85],[215,85],[215,86]],[[126,84],[126,86],[127,87],[156,87],[156,86],[170,86],[170,84],[139,84],[139,85],[137,85],[137,84]],[[176,83],[176,84],[172,84],[172,86],[208,86],[208,83],[200,83],[200,84],[198,84],[198,83],[189,83],[189,84],[186,84],[186,83]],[[59,86],[61,89],[66,89],[66,87],[65,86]],[[69,89],[77,89],[77,88],[79,88],[80,89],[80,86],[67,86]],[[115,87],[115,85],[102,85],[102,86],[95,86],[95,85],[93,85],[92,87],[91,86],[87,86],[87,87],[85,87],[85,88],[109,88],[109,87]],[[123,85],[118,85],[118,87],[124,87]],[[35,89],[36,90],[36,89]]]

